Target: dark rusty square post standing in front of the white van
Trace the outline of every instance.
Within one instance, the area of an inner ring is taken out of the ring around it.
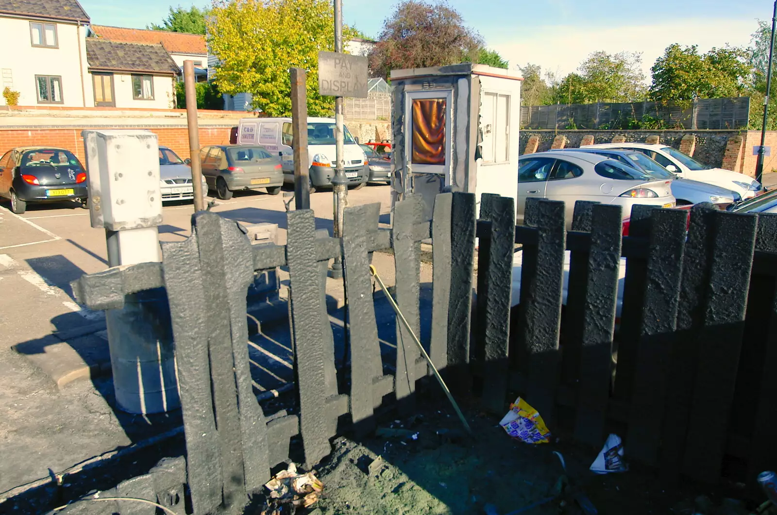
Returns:
[[[308,85],[305,68],[291,68],[291,132],[294,134],[294,207],[310,209]]]

